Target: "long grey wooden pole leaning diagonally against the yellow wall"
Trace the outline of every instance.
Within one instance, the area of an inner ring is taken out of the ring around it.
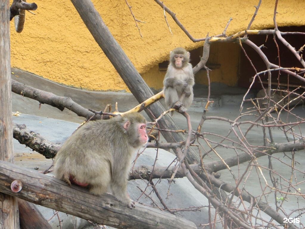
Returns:
[[[92,2],[90,0],[71,0],[71,2],[95,41],[113,64],[114,68],[117,70],[138,102],[142,103],[152,97],[152,91],[126,56],[121,46],[113,38],[108,27],[99,15],[99,12],[94,8]],[[156,102],[145,109],[146,114],[151,120],[158,118],[164,111],[165,110],[160,102]],[[164,116],[158,123],[161,129],[178,130],[177,125],[169,115]],[[162,132],[162,135],[167,142],[185,141],[185,137],[182,133],[173,134],[170,132]],[[187,159],[190,164],[199,163],[200,161],[199,155],[191,148],[188,150]]]

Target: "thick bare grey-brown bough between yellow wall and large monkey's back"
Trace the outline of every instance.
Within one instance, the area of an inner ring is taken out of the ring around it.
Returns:
[[[75,103],[69,97],[57,96],[57,95],[54,95],[53,93],[38,90],[36,88],[27,86],[23,83],[19,83],[15,80],[12,80],[12,92],[14,92],[18,95],[28,97],[33,100],[37,100],[41,104],[51,105],[53,107],[58,108],[61,111],[63,111],[64,108],[67,108],[70,111],[73,111],[78,116],[81,116],[81,117],[84,117],[87,119],[91,118],[94,115],[94,113],[88,111],[88,109]]]

